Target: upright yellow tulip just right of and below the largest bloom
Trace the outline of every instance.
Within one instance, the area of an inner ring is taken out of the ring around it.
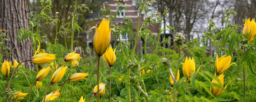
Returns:
[[[109,48],[106,50],[106,52],[102,55],[104,61],[107,63],[109,67],[112,67],[116,62],[116,55],[115,51],[117,48],[112,49],[112,47],[109,45]]]

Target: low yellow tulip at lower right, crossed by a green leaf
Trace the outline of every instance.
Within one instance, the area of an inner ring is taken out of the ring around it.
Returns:
[[[224,75],[223,75],[223,73],[220,76],[218,76],[217,78],[219,79],[219,82],[217,80],[213,79],[212,83],[219,84],[219,85],[223,86],[224,85]],[[229,82],[231,82],[231,81],[229,81]],[[228,85],[228,83],[227,83],[227,85]],[[227,85],[224,87],[225,89],[227,88]],[[223,92],[225,92],[225,90],[223,90],[222,88],[218,88],[218,87],[210,87],[210,91],[211,91],[212,95],[215,96],[215,97],[222,94]]]

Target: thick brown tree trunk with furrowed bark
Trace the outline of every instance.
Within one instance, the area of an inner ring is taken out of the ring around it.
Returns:
[[[33,56],[33,45],[30,39],[25,39],[24,44],[17,41],[18,31],[21,28],[29,29],[28,0],[0,0],[0,29],[6,29],[8,41],[4,46],[12,52],[4,59],[23,61]],[[35,70],[31,62],[24,63],[26,68]]]

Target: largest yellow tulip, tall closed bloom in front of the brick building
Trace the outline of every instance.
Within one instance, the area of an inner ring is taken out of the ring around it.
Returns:
[[[111,28],[109,28],[109,19],[103,18],[99,27],[96,28],[94,37],[93,37],[93,47],[98,56],[104,54],[107,50],[110,39],[111,39]]]

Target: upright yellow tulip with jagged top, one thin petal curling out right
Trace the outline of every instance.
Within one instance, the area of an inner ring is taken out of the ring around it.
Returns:
[[[200,67],[203,66],[203,65],[200,65],[199,68],[197,69],[197,72],[199,72],[200,70]],[[187,78],[187,80],[191,77],[191,74],[192,73],[195,73],[195,70],[196,70],[196,65],[195,65],[195,61],[194,61],[194,58],[192,57],[192,59],[185,59],[185,62],[182,63],[182,71],[183,71],[183,74],[184,76]]]

